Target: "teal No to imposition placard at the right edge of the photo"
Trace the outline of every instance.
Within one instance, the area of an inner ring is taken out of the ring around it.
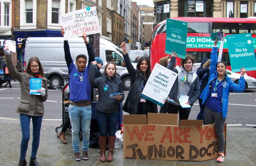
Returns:
[[[255,70],[256,59],[253,49],[252,34],[227,35],[226,39],[232,72],[239,72],[242,67],[244,67],[246,71]]]

